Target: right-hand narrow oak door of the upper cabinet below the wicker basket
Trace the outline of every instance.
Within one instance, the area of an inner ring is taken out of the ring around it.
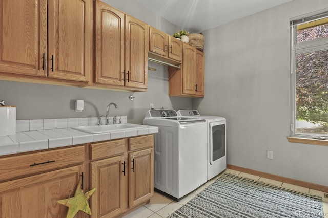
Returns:
[[[204,53],[196,50],[196,95],[204,96]]]

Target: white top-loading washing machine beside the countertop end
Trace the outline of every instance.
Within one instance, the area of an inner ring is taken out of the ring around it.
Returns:
[[[175,110],[149,110],[144,125],[158,126],[154,188],[179,201],[207,182],[207,122],[178,117]]]

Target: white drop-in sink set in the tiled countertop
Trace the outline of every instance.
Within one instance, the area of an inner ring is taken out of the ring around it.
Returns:
[[[138,128],[146,128],[147,126],[132,124],[132,123],[124,123],[124,124],[114,124],[114,125],[94,125],[94,126],[78,126],[73,127],[72,129],[76,129],[79,131],[83,131],[86,133],[107,133],[118,130],[132,130]]]

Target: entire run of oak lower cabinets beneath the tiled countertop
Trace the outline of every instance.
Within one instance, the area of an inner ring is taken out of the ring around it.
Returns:
[[[153,195],[154,135],[10,155],[0,165],[0,218],[64,218],[68,207],[57,201],[73,197],[79,182],[84,192],[96,188],[92,218],[117,217]]]

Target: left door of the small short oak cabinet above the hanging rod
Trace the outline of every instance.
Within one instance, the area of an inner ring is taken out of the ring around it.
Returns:
[[[159,54],[163,57],[168,53],[168,35],[154,27],[150,27],[149,51]]]

